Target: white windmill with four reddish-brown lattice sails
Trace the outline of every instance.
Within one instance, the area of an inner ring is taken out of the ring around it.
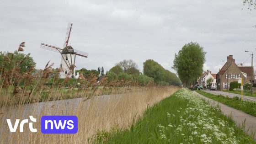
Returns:
[[[71,46],[68,45],[72,26],[73,26],[72,23],[68,24],[68,29],[67,29],[63,48],[58,48],[58,47],[48,45],[45,43],[41,43],[41,46],[40,46],[40,48],[60,53],[60,55],[61,55],[60,68],[62,68],[63,71],[61,71],[59,73],[59,78],[66,78],[66,77],[75,78],[74,72],[75,72],[75,57],[76,57],[76,55],[85,57],[85,58],[88,57],[88,53],[85,53],[85,52],[82,52],[79,50],[75,50],[74,48],[72,48]],[[72,74],[72,75],[70,75],[70,74]]]

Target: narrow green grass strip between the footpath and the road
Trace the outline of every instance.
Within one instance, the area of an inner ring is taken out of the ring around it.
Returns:
[[[241,110],[245,113],[248,113],[252,116],[256,116],[256,103],[252,101],[241,101],[238,97],[229,98],[222,95],[213,95],[204,91],[197,91],[199,94],[206,96],[215,101],[219,101],[229,107]]]

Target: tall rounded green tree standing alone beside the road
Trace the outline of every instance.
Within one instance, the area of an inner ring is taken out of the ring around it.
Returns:
[[[203,47],[198,43],[187,43],[178,54],[175,53],[172,68],[176,70],[184,86],[202,75],[205,62]]]

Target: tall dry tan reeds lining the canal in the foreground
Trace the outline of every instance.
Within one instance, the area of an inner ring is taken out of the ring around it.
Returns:
[[[170,96],[180,87],[134,87],[135,90],[118,89],[115,94],[105,96],[81,97],[78,99],[45,101],[32,104],[19,104],[0,108],[0,143],[10,144],[81,144],[98,131],[129,128],[143,112]],[[118,93],[118,94],[117,94]],[[61,93],[59,93],[61,95]],[[61,97],[61,96],[57,96]],[[60,98],[61,99],[61,98]],[[29,119],[32,115],[37,118],[33,127],[37,133],[30,132],[28,124],[24,132],[10,133],[6,119]],[[78,117],[78,133],[76,134],[43,134],[40,132],[40,118],[44,115],[75,115]]]

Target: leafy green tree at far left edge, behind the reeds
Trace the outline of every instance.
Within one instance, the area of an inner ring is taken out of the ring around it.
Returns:
[[[4,64],[5,57],[8,57],[8,59],[11,60],[9,64]],[[0,52],[0,67],[5,65],[5,69],[13,69],[15,62],[22,62],[21,64],[17,65],[20,68],[20,73],[25,73],[36,65],[33,58],[30,57],[30,53],[25,55],[24,53],[19,53],[18,51],[9,54],[8,52]]]

